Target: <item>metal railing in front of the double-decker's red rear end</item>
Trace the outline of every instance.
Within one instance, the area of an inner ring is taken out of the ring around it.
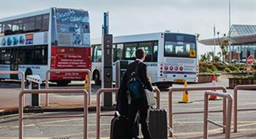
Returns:
[[[51,72],[85,72],[88,74],[88,84],[89,84],[89,97],[88,103],[91,105],[91,71],[89,69],[51,69],[45,73],[45,88],[46,89],[83,89],[83,87],[49,87],[49,74]],[[49,106],[48,93],[45,94],[45,106]]]

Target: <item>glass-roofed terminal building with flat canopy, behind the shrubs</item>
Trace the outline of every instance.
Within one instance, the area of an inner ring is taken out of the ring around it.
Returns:
[[[227,33],[229,34],[229,33]],[[203,39],[200,43],[205,45],[220,45],[223,39],[229,36],[217,37],[215,39]],[[230,45],[227,47],[227,61],[245,62],[246,57],[254,55],[256,57],[256,25],[232,25],[230,28]]]

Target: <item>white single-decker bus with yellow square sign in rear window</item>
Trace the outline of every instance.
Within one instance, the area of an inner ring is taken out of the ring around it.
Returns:
[[[92,39],[92,76],[100,83],[102,75],[101,39]],[[173,82],[197,82],[197,39],[186,33],[145,33],[113,37],[113,66],[117,60],[135,60],[135,51],[146,51],[151,82],[159,87],[170,87]],[[113,70],[113,75],[115,70]],[[113,79],[114,80],[114,79]]]

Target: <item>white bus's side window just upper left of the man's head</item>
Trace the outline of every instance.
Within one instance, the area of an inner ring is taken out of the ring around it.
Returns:
[[[137,43],[124,44],[125,47],[125,60],[135,60],[135,51],[138,47]]]

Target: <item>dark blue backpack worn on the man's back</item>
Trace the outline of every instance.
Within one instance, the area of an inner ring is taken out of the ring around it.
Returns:
[[[127,88],[132,100],[142,98],[143,85],[138,76],[138,66],[140,62],[137,63],[135,71],[129,76],[129,81],[127,83]]]

